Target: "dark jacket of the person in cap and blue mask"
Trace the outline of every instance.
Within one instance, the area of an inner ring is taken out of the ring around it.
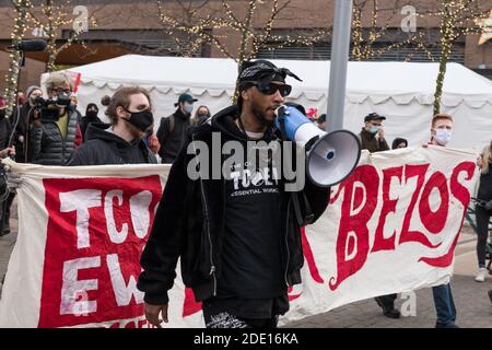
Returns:
[[[180,108],[173,114],[174,127],[171,131],[171,117],[162,118],[157,129],[157,139],[161,143],[159,155],[163,163],[173,163],[186,142],[186,135],[191,124],[190,116],[185,116]]]

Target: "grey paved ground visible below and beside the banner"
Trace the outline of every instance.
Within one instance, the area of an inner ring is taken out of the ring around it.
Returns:
[[[12,210],[14,212],[14,210]],[[11,220],[13,231],[17,221]],[[16,233],[0,237],[0,277],[7,270],[10,254],[15,244]],[[476,236],[469,228],[465,228],[456,249],[455,277],[453,279],[453,294],[458,311],[457,324],[460,327],[492,328],[492,305],[487,291],[492,289],[492,276],[485,283],[473,280],[477,272],[477,257],[475,253]],[[431,328],[435,324],[434,303],[431,289],[415,292],[415,316],[391,319],[383,316],[374,300],[361,301],[345,305],[326,314],[304,318],[291,323],[285,327],[294,328]],[[400,298],[396,305],[400,307],[406,302]]]

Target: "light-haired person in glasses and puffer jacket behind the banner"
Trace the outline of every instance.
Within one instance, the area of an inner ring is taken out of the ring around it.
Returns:
[[[60,72],[45,82],[49,103],[33,113],[30,127],[28,162],[40,165],[65,165],[81,137],[79,114],[71,102],[72,82]]]

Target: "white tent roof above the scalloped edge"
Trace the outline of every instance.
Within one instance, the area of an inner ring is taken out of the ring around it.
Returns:
[[[303,79],[290,79],[294,86],[292,97],[313,95],[309,100],[326,97],[329,81],[329,61],[271,60],[286,67]],[[142,85],[149,89],[177,92],[191,90],[197,95],[234,92],[237,65],[232,59],[176,58],[126,55],[118,58],[70,69],[82,74],[83,84],[117,89],[121,85]],[[399,98],[432,97],[438,63],[351,61],[347,92],[365,97]],[[492,103],[492,82],[458,63],[448,63],[444,95],[449,101]],[[398,102],[398,101],[397,101]],[[432,103],[432,102],[431,102]]]

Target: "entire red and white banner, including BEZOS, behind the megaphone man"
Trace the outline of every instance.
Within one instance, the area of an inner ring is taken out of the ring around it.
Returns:
[[[303,284],[281,324],[448,281],[476,160],[434,147],[363,152],[303,232]],[[168,167],[13,167],[24,183],[0,327],[147,327],[136,281]],[[167,327],[203,326],[179,273],[169,299]]]

